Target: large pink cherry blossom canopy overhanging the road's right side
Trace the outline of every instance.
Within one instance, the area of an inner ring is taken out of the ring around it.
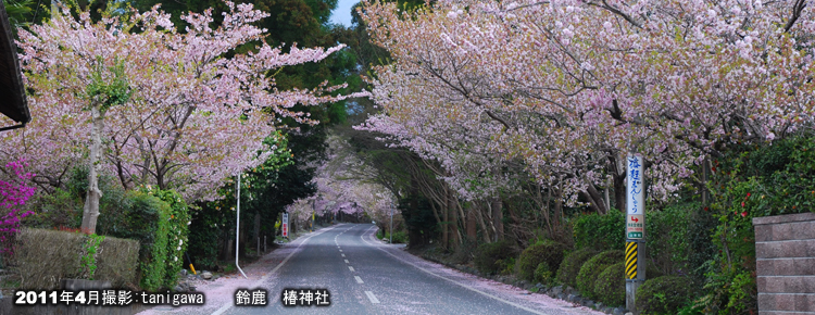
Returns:
[[[363,128],[450,172],[451,143],[521,160],[599,212],[609,186],[622,209],[629,152],[649,162],[649,197],[668,200],[729,143],[812,128],[815,23],[801,1],[376,2],[361,13],[393,58],[375,70],[383,114]]]

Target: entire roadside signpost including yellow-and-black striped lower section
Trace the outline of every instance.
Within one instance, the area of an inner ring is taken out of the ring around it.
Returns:
[[[645,184],[644,160],[626,158],[626,308],[636,311],[637,288],[645,281]]]

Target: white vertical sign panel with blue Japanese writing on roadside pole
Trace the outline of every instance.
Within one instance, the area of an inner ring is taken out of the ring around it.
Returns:
[[[645,234],[644,160],[641,155],[626,158],[626,238],[642,239]]]

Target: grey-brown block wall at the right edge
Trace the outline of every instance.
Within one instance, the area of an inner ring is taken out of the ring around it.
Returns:
[[[815,314],[815,213],[753,218],[758,315]]]

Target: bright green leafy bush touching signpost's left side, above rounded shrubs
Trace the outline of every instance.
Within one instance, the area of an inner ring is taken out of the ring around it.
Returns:
[[[625,214],[616,210],[610,211],[606,215],[581,215],[574,226],[575,248],[622,250],[625,248]]]

